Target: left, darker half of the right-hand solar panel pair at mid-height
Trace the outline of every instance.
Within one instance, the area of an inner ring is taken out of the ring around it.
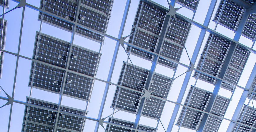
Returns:
[[[210,34],[200,57],[197,69],[217,77],[229,45],[229,41],[217,35]],[[195,72],[194,77],[197,77],[198,74],[198,72]],[[215,83],[215,78],[204,75],[203,73],[200,73],[199,79]]]

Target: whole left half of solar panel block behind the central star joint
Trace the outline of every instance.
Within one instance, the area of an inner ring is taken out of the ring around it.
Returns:
[[[134,68],[137,71],[139,76],[137,76]],[[139,67],[134,67],[134,68],[132,67],[132,65],[124,62],[123,68],[122,68],[122,71],[121,71],[121,74],[119,77],[118,84],[142,92],[143,85],[146,82],[147,75],[149,74],[149,71],[139,68]],[[139,99],[141,97],[141,95],[142,94],[140,94],[138,92],[117,87],[117,90],[114,95],[112,107],[121,109],[124,106],[131,104],[131,105],[127,106],[126,108],[124,108],[124,110],[136,112],[138,104],[139,104],[139,100],[137,100],[137,99]],[[132,103],[132,102],[134,102],[134,103]],[[115,103],[116,103],[116,106],[115,106]]]

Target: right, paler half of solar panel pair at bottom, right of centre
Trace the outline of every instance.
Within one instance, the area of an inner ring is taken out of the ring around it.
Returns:
[[[223,117],[226,112],[229,101],[230,99],[217,96],[210,113]],[[221,118],[209,115],[205,124],[204,132],[217,132],[221,121]]]

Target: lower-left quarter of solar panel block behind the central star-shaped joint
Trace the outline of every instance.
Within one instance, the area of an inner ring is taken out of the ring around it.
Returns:
[[[119,96],[117,98],[118,93],[119,93]],[[134,91],[131,91],[128,89],[117,87],[116,93],[114,95],[112,107],[115,107],[115,103],[117,103],[116,108],[122,109],[125,106],[130,104],[129,106],[125,107],[124,110],[131,111],[131,112],[135,113],[137,110],[137,107],[139,105],[139,100],[137,100],[137,99],[139,99],[140,97],[141,97],[141,94],[138,92],[134,92]]]

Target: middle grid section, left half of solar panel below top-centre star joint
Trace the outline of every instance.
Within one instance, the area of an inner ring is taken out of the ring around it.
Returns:
[[[135,32],[135,28],[132,28],[132,33]],[[154,52],[154,49],[157,45],[158,37],[150,35],[144,31],[138,31],[130,36],[129,43],[139,46],[146,50]]]

